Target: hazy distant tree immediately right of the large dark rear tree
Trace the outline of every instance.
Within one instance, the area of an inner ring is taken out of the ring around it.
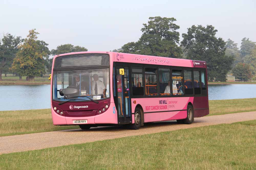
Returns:
[[[238,50],[237,43],[234,43],[234,41],[228,39],[228,41],[226,41],[225,47],[225,55],[234,58],[234,62],[232,65],[232,68],[234,68],[237,65],[237,63],[242,62],[242,58],[240,56],[240,51]]]

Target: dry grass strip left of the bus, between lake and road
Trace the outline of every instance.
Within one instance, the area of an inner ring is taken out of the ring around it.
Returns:
[[[75,129],[78,126],[54,126],[51,110],[0,111],[0,136]]]

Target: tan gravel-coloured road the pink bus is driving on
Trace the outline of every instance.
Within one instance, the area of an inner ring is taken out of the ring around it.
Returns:
[[[5,136],[0,137],[0,154],[255,119],[256,111],[195,118],[195,122],[191,125],[167,121],[148,123],[139,130],[129,130],[122,127],[96,127],[90,130],[72,129]]]

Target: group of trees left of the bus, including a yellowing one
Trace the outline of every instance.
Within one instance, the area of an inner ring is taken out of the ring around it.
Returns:
[[[35,76],[51,72],[52,58],[50,55],[88,51],[85,47],[64,44],[51,51],[45,41],[38,40],[36,29],[29,30],[27,38],[13,36],[9,33],[0,38],[0,81],[2,73],[14,73],[21,79],[27,76],[34,81]]]

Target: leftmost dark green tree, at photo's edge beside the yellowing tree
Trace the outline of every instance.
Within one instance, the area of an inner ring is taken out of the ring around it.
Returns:
[[[18,51],[18,46],[23,42],[20,36],[13,36],[9,33],[3,34],[0,39],[0,81],[2,81],[2,73],[7,73],[13,59]]]

